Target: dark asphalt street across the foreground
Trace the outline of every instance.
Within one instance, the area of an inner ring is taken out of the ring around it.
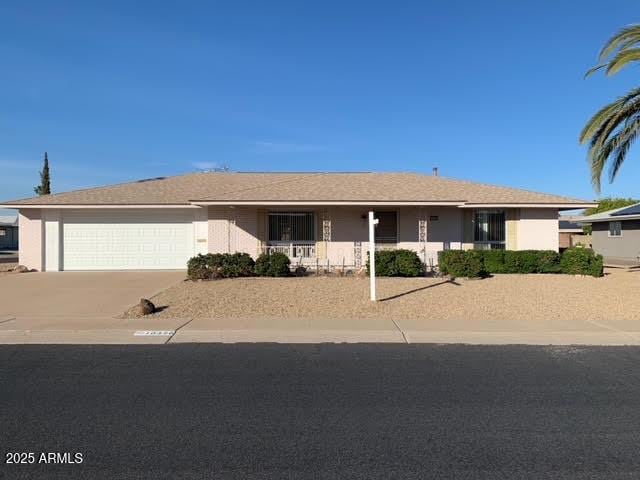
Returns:
[[[635,347],[0,346],[0,476],[638,478],[639,365]]]

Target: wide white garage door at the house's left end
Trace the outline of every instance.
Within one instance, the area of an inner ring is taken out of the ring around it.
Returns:
[[[64,270],[185,269],[193,255],[193,212],[64,212]]]

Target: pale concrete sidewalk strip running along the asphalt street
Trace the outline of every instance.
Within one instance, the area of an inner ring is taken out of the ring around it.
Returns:
[[[383,319],[116,319],[0,316],[0,343],[466,343],[640,345],[634,321],[425,322]]]

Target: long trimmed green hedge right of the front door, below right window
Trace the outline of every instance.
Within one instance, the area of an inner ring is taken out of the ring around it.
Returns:
[[[553,250],[445,250],[438,252],[440,271],[454,277],[491,273],[566,273],[602,276],[602,257],[587,248]]]

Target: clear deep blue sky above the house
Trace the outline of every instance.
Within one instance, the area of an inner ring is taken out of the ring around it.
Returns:
[[[578,7],[579,5],[579,7]],[[631,0],[2,2],[0,200],[197,171],[417,171],[595,198],[583,79]],[[638,196],[640,145],[604,195]]]

